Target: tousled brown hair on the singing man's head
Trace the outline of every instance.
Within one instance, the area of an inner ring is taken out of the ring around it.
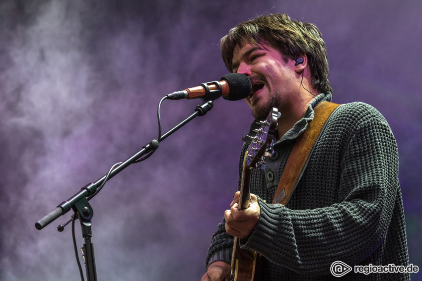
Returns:
[[[287,14],[260,15],[239,23],[221,38],[221,56],[229,71],[232,69],[233,51],[245,40],[252,45],[267,45],[278,50],[287,62],[306,55],[313,87],[321,93],[332,92],[328,81],[328,60],[324,40],[312,23],[291,20]]]

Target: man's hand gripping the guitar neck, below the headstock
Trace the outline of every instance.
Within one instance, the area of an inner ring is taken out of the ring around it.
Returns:
[[[230,210],[224,212],[225,229],[230,235],[248,238],[258,223],[261,209],[258,204],[258,198],[251,193],[248,208],[239,210],[239,195],[240,192],[237,191],[230,204]]]

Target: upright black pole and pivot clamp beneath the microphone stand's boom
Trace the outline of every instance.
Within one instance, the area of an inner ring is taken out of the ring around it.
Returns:
[[[86,280],[97,281],[97,270],[95,268],[94,245],[91,243],[92,231],[91,220],[94,210],[89,205],[88,200],[82,197],[72,206],[73,211],[77,214],[82,230],[82,237],[85,243],[82,247],[82,258],[85,262]]]

